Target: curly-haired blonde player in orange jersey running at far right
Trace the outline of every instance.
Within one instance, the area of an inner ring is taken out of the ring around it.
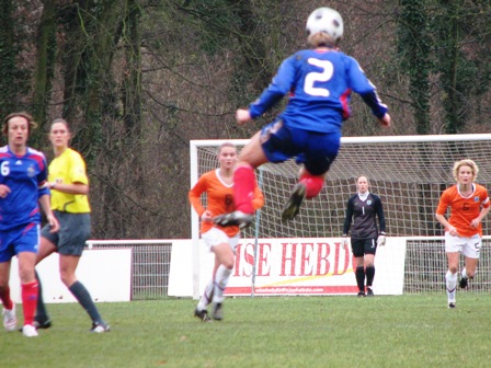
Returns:
[[[465,256],[459,285],[467,287],[472,279],[481,249],[482,219],[490,210],[488,191],[476,184],[479,169],[472,160],[460,160],[454,164],[454,179],[457,184],[443,192],[436,208],[436,219],[445,228],[445,252],[448,271],[445,275],[448,308],[455,308],[457,288],[458,253]],[[445,218],[447,208],[450,217]]]

